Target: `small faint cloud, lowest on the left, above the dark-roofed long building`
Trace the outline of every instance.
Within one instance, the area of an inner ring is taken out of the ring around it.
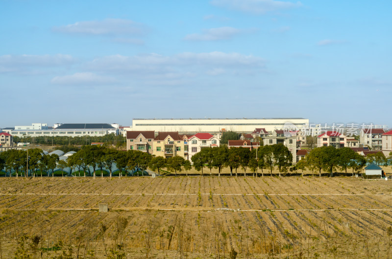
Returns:
[[[51,81],[55,85],[107,85],[116,83],[111,77],[100,76],[90,72],[74,73],[73,75],[56,76]]]

